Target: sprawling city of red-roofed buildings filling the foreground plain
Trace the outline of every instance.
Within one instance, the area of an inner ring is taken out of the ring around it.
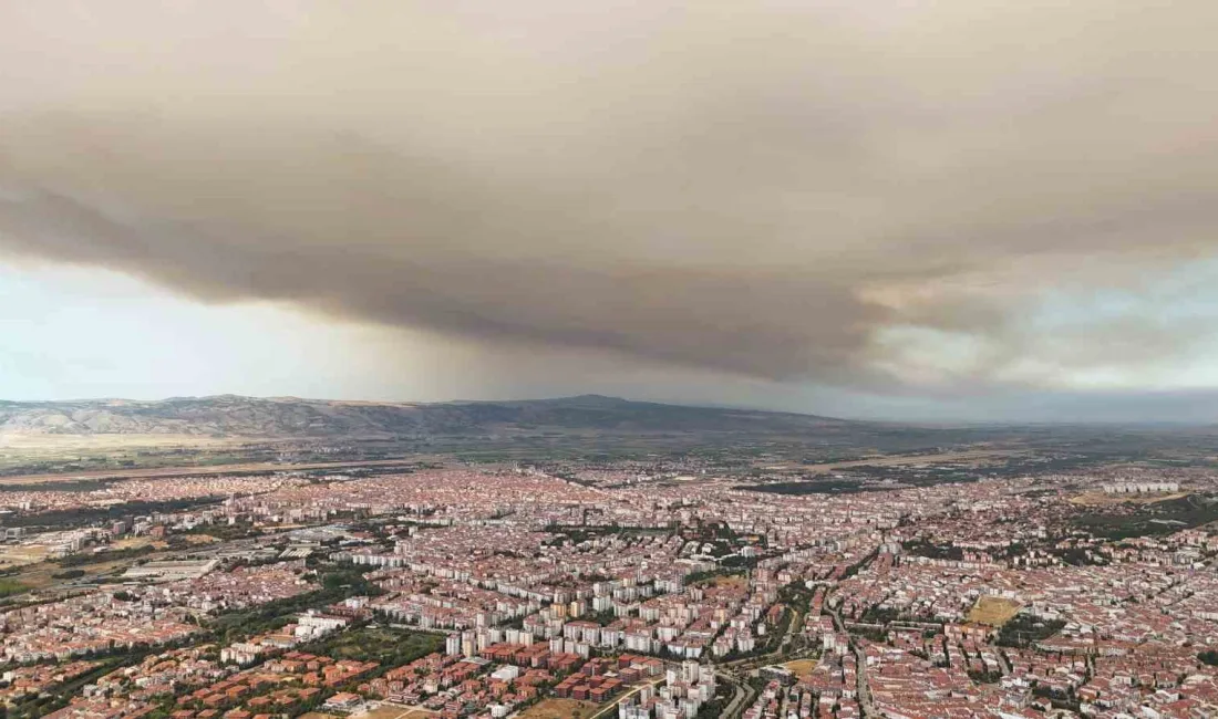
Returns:
[[[1218,712],[1218,471],[895,459],[23,478],[0,696],[57,719]]]

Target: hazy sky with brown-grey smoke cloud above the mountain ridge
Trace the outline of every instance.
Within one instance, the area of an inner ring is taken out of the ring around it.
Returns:
[[[1218,421],[1216,26],[0,4],[0,398]]]

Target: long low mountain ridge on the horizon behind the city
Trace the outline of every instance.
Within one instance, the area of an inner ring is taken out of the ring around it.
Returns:
[[[158,401],[0,401],[0,434],[309,438],[596,431],[803,436],[862,426],[812,415],[628,401],[600,395],[435,404],[235,395]]]

